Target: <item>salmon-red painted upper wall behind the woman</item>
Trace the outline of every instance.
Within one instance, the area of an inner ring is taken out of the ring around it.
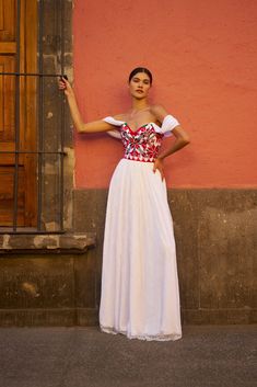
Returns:
[[[74,0],[74,88],[84,121],[130,107],[127,78],[189,133],[165,160],[170,187],[257,187],[257,1]],[[168,146],[172,138],[163,146]],[[75,135],[77,187],[106,187],[122,147]]]

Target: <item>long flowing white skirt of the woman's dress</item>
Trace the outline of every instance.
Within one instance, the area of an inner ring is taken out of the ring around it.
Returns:
[[[110,181],[100,327],[129,339],[182,338],[173,220],[152,162],[122,159]]]

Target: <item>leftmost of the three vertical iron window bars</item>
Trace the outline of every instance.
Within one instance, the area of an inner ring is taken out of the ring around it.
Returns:
[[[20,72],[20,26],[21,26],[21,2],[16,0],[16,72]],[[20,78],[15,78],[15,167],[13,184],[13,231],[17,226],[17,194],[19,194],[19,150],[20,150]]]

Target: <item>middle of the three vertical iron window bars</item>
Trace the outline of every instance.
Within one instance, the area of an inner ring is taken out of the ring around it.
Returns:
[[[43,25],[44,25],[44,0],[39,1],[38,4],[38,14],[39,14],[39,26],[38,26],[38,67],[39,67],[39,73],[43,73]],[[37,160],[37,230],[42,230],[42,179],[43,179],[43,173],[42,173],[42,168],[43,168],[43,124],[44,124],[44,113],[43,113],[43,99],[44,99],[44,83],[43,83],[43,77],[39,77],[38,79],[38,140],[37,140],[37,151],[38,151],[38,160]]]

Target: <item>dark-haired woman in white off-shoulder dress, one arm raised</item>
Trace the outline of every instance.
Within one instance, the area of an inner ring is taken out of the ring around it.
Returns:
[[[148,69],[136,68],[128,87],[132,106],[127,113],[85,124],[72,88],[60,81],[77,130],[108,132],[119,136],[125,148],[108,193],[100,327],[129,339],[178,340],[179,287],[163,160],[189,138],[163,106],[149,104],[152,75]],[[171,133],[175,141],[159,152],[163,137]]]

